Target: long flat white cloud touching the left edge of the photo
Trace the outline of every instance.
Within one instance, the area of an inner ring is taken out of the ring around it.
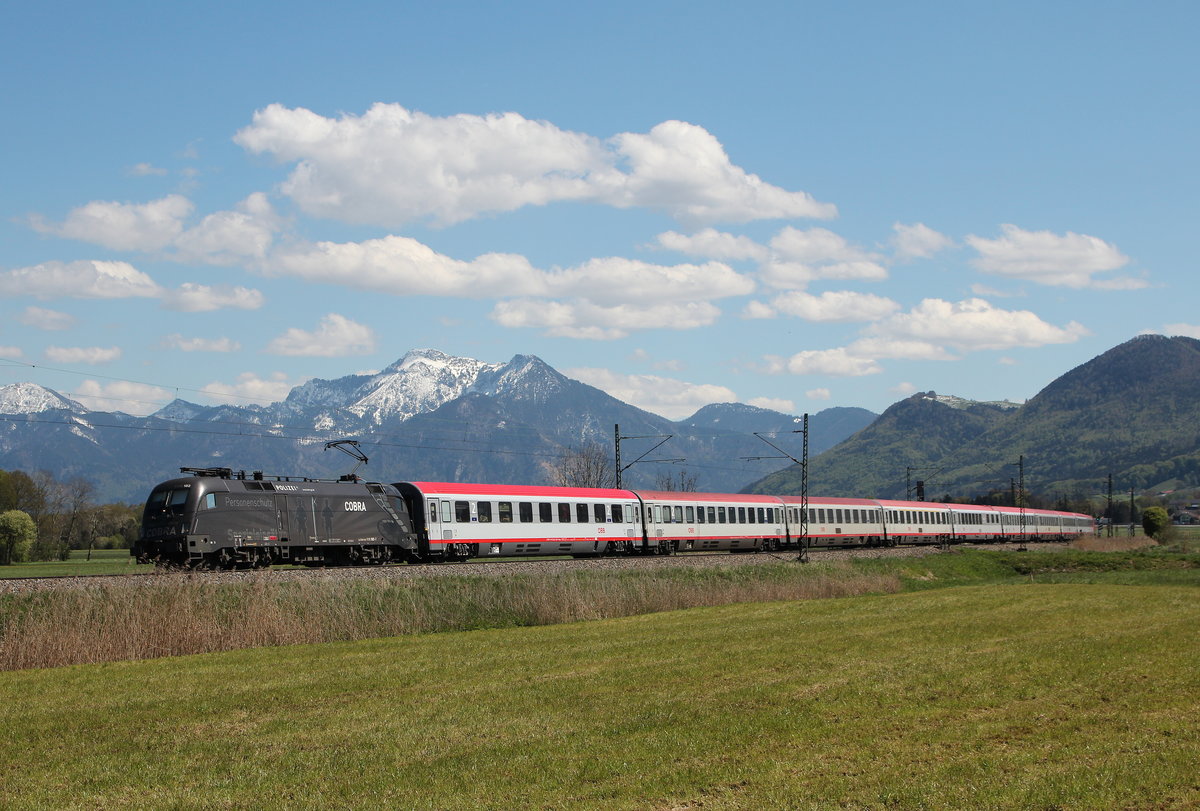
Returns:
[[[126,262],[47,262],[0,274],[0,293],[38,299],[154,299],[162,295],[154,280]]]

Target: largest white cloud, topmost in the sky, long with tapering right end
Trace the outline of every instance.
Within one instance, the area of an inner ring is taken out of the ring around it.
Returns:
[[[602,142],[516,113],[438,118],[377,103],[330,119],[271,104],[234,140],[294,162],[282,191],[306,212],[353,223],[451,224],[560,200],[660,209],[686,222],[836,214],[745,173],[716,138],[682,121]]]

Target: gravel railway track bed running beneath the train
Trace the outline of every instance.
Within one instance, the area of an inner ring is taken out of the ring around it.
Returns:
[[[1031,543],[1034,548],[1062,548],[1061,542]],[[950,547],[952,549],[1012,549],[1014,543],[970,543]],[[942,547],[894,546],[870,548],[810,549],[814,563],[848,560],[854,558],[912,558],[946,552]],[[336,566],[314,569],[259,569],[259,570],[203,570],[179,571],[150,569],[148,571],[124,575],[61,575],[55,577],[10,577],[0,578],[0,595],[22,594],[55,589],[114,588],[137,585],[161,585],[173,581],[240,583],[260,579],[289,581],[312,577],[336,579],[394,579],[406,581],[418,577],[472,577],[472,576],[514,576],[535,572],[576,571],[576,570],[630,570],[653,569],[662,566],[754,566],[780,561],[797,561],[794,551],[764,552],[758,554],[730,554],[727,552],[686,552],[670,557],[630,557],[630,558],[542,558],[515,560],[475,559],[469,563],[404,564],[388,566]]]

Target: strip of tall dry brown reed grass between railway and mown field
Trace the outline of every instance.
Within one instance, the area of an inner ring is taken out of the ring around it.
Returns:
[[[58,667],[264,645],[550,625],[727,605],[900,589],[846,566],[755,577],[552,575],[419,582],[263,575],[217,584],[187,576],[13,595],[0,601],[0,669]]]

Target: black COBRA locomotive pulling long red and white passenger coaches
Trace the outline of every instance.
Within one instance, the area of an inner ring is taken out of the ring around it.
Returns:
[[[1094,518],[1075,512],[934,501],[180,473],[187,475],[156,485],[146,499],[131,549],[138,563],[346,566],[1024,542],[1096,531]]]

